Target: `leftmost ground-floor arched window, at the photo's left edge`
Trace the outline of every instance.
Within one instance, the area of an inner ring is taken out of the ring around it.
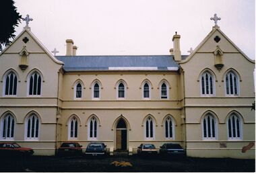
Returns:
[[[15,121],[11,114],[7,114],[1,122],[1,138],[13,139]]]

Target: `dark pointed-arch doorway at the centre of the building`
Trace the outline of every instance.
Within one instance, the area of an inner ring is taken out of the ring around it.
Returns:
[[[117,150],[127,150],[127,126],[126,126],[125,120],[123,120],[123,118],[121,118],[117,122],[116,149]]]

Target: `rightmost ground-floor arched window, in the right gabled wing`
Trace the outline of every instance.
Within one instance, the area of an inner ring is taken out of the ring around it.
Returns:
[[[228,118],[228,138],[242,138],[241,120],[236,116],[236,114],[231,114]]]

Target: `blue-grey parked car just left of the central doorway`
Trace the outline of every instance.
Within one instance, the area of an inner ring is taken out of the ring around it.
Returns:
[[[104,156],[106,155],[106,145],[103,142],[90,142],[86,148],[86,155]]]

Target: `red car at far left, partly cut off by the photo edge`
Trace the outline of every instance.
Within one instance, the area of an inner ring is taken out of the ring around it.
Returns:
[[[28,157],[33,153],[32,148],[21,147],[16,142],[0,142],[0,157]]]

